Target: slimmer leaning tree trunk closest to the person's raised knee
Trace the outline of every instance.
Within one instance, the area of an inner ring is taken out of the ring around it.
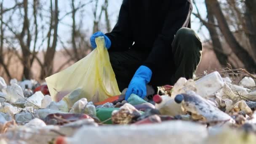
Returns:
[[[207,17],[208,17],[208,24],[206,24],[206,27],[210,33],[212,44],[213,44],[213,51],[216,54],[217,59],[219,60],[219,63],[222,67],[227,67],[228,63],[228,56],[224,53],[224,50],[222,48],[221,42],[219,40],[219,35],[216,32],[216,27],[213,25],[215,24],[215,19],[213,15],[213,9],[211,8],[211,0],[205,0],[205,6],[207,10]]]

